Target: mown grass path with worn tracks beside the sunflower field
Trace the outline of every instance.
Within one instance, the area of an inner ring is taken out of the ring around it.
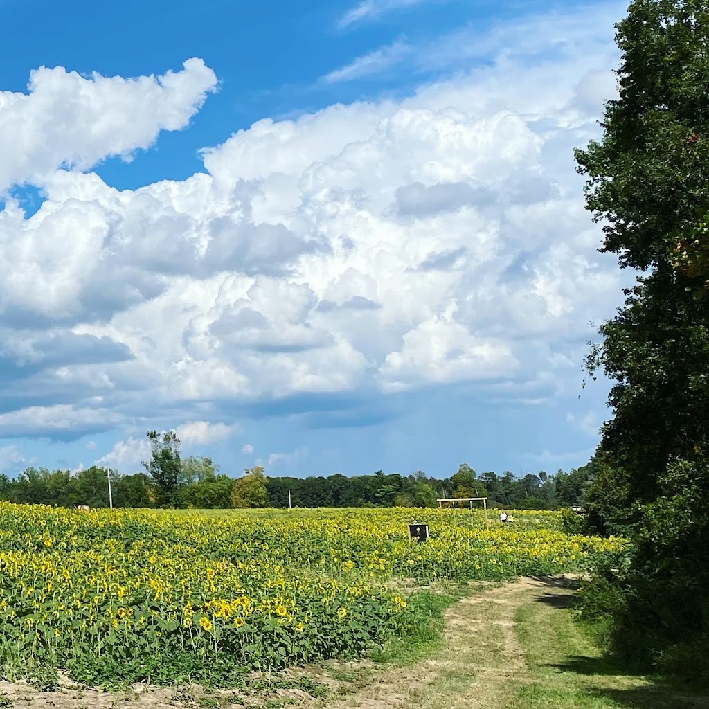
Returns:
[[[386,671],[328,709],[707,709],[709,693],[679,691],[604,661],[571,622],[575,585],[520,579],[455,603],[445,646]]]

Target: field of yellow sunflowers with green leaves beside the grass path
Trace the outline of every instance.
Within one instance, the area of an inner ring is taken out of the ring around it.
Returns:
[[[408,539],[414,517],[430,525],[428,542]],[[0,672],[225,685],[362,657],[425,622],[417,594],[428,584],[579,571],[625,545],[560,526],[554,512],[486,525],[464,510],[86,513],[0,502]]]

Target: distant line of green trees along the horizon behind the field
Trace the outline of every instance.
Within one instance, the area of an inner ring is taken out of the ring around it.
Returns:
[[[262,469],[238,479],[221,474],[208,457],[174,461],[172,476],[155,459],[145,473],[121,475],[111,470],[113,507],[248,508],[248,507],[435,507],[440,497],[489,498],[491,506],[557,509],[581,503],[595,478],[593,462],[554,474],[515,476],[510,471],[477,474],[462,464],[452,476],[436,479],[423,471],[407,476],[376,471],[306,478],[264,476]],[[79,471],[29,467],[16,479],[0,475],[0,500],[71,508],[108,507],[108,473],[103,467]]]

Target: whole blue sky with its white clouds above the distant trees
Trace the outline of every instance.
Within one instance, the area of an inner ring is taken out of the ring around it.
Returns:
[[[1,471],[588,460],[623,4],[1,4]]]

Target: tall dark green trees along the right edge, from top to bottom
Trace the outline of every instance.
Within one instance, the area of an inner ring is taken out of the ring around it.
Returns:
[[[614,382],[588,508],[636,541],[618,647],[671,658],[709,642],[709,1],[635,0],[616,28],[619,96],[576,160],[602,250],[641,274],[588,359]]]

